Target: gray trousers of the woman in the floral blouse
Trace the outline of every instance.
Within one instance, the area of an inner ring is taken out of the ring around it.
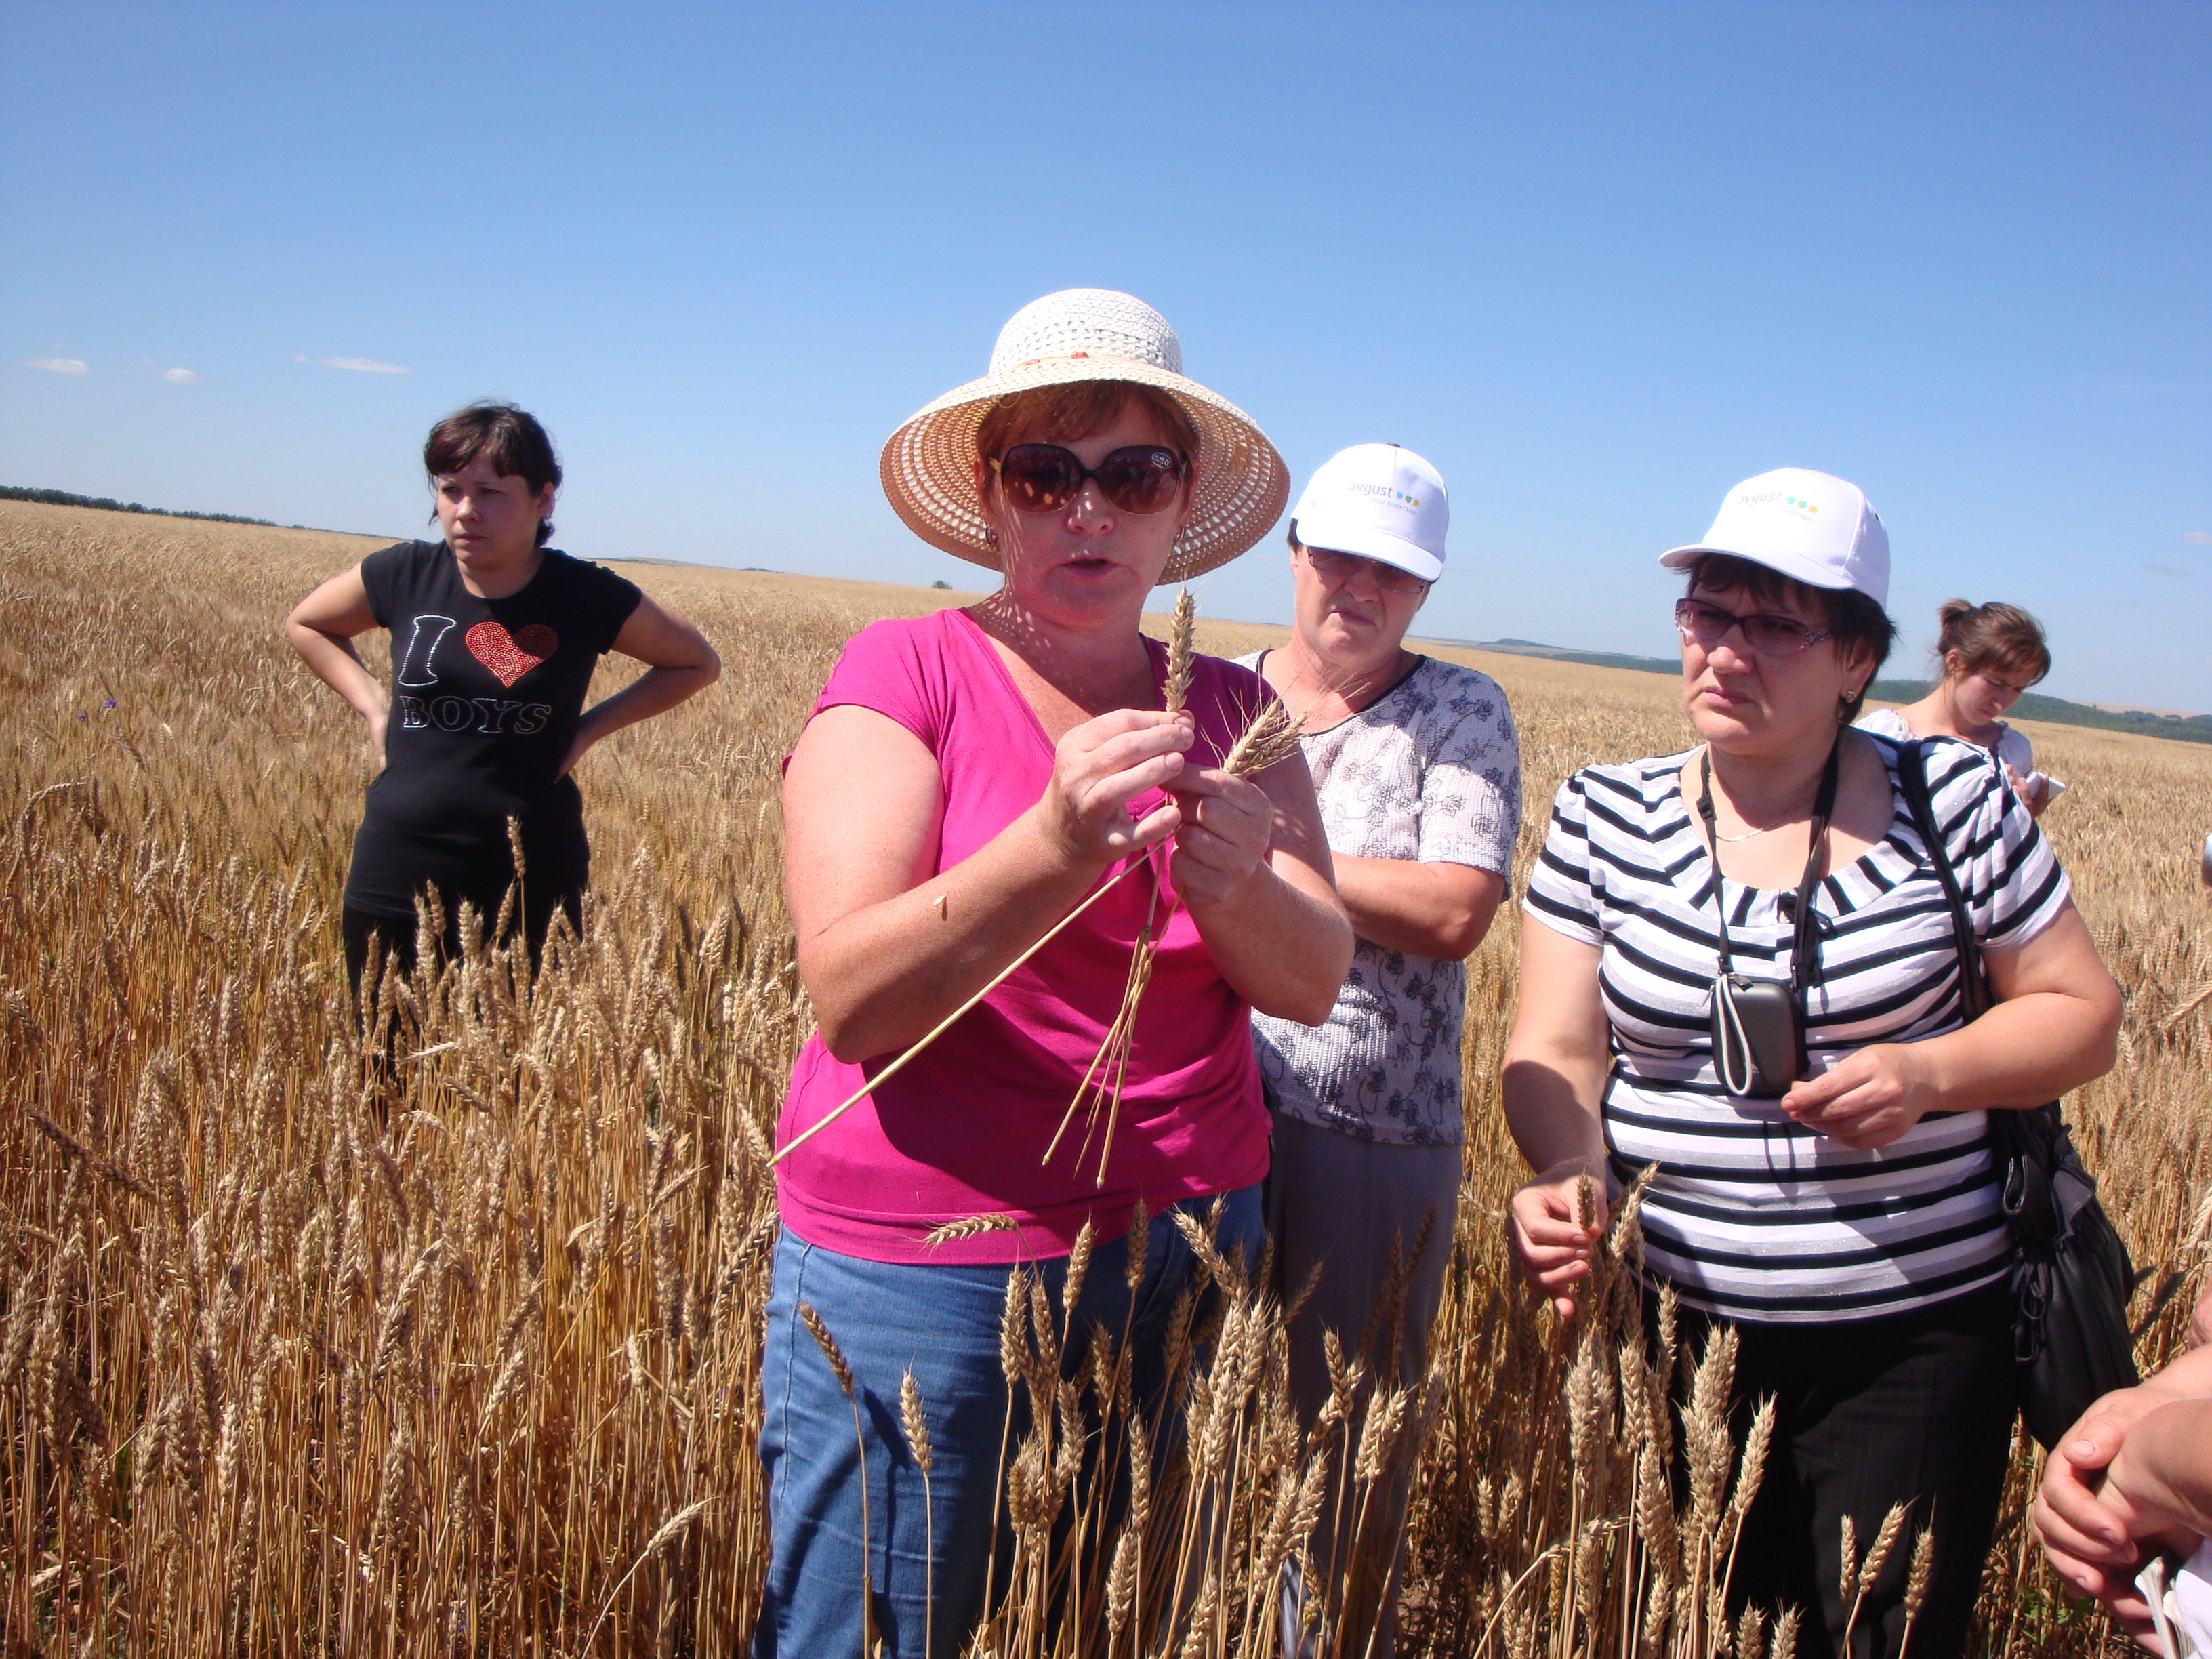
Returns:
[[[1290,1321],[1290,1394],[1298,1416],[1312,1425],[1329,1398],[1323,1332],[1336,1332],[1347,1365],[1365,1356],[1378,1387],[1411,1387],[1427,1367],[1429,1325],[1444,1296],[1460,1208],[1460,1148],[1360,1141],[1274,1113],[1274,1161],[1263,1197],[1276,1292],[1285,1307],[1305,1296]],[[1413,1259],[1425,1232],[1427,1248]],[[1336,1540],[1340,1502],[1332,1491],[1307,1544],[1329,1601],[1323,1617],[1347,1626],[1343,1652],[1387,1659],[1396,1650],[1405,1473],[1383,1513],[1343,1548]],[[1312,1652],[1312,1635],[1301,1632],[1303,1599],[1303,1586],[1285,1573],[1285,1655]]]

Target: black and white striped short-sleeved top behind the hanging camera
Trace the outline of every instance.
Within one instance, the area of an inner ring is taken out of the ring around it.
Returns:
[[[1896,787],[1898,743],[1869,741]],[[1683,801],[1690,754],[1593,765],[1559,785],[1524,900],[1537,920],[1599,947],[1613,1175],[1626,1183],[1659,1166],[1644,1197],[1648,1267],[1686,1303],[1774,1323],[1871,1318],[1991,1283],[2008,1239],[1982,1113],[1929,1113],[1889,1146],[1856,1152],[1714,1077],[1717,907],[1728,905],[1739,971],[1787,978],[1794,891],[1719,876]],[[1984,949],[2026,945],[2057,920],[2066,874],[1989,752],[1940,743],[1929,790]],[[1874,1042],[1958,1029],[1951,916],[1902,796],[1889,836],[1827,876],[1814,911],[1814,1073]]]

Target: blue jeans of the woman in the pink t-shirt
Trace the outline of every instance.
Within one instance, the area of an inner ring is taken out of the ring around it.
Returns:
[[[1212,1203],[1186,1199],[1177,1208],[1203,1221]],[[1254,1261],[1261,1230],[1259,1188],[1225,1194],[1217,1234],[1223,1254]],[[1064,1343],[1066,1371],[1084,1358],[1091,1325],[1104,1323],[1115,1338],[1126,1325],[1144,1409],[1164,1391],[1168,1316],[1197,1263],[1168,1214],[1146,1232],[1135,1294],[1126,1263],[1126,1239],[1093,1252]],[[1057,1316],[1066,1256],[1033,1263],[1033,1272]],[[1006,1537],[998,1473],[1009,1409],[1015,1440],[1026,1427],[1026,1389],[1009,1396],[998,1356],[1011,1274],[1011,1263],[863,1261],[818,1250],[790,1230],[776,1241],[761,1358],[770,1557],[752,1635],[757,1659],[860,1655],[863,1582],[883,1652],[956,1659],[962,1650],[984,1613],[991,1553]],[[799,1303],[814,1307],[852,1367],[858,1436],[854,1405],[799,1321]],[[900,1427],[898,1394],[909,1371],[929,1420],[927,1486]],[[1006,1582],[1004,1562],[1000,1548],[998,1586]]]

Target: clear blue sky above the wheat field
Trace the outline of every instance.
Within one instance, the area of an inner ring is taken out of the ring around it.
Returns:
[[[1655,555],[1801,465],[1889,522],[1896,668],[2002,597],[2048,690],[2212,708],[2208,4],[0,0],[0,482],[405,535],[493,394],[573,553],[971,582],[883,438],[1126,288],[1298,480],[1438,462],[1429,633],[1670,653]],[[1203,608],[1285,617],[1279,546]]]

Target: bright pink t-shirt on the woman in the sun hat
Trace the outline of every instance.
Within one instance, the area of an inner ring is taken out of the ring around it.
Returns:
[[[1155,677],[1166,650],[1146,641]],[[1217,763],[1270,697],[1259,675],[1197,657],[1192,759]],[[945,810],[936,869],[962,863],[1022,816],[1053,776],[1053,745],[991,639],[962,611],[876,622],[838,659],[814,710],[852,703],[905,726],[938,757]],[[1157,792],[1130,803],[1144,816]],[[1144,1194],[1234,1192],[1267,1172],[1267,1113],[1252,1060],[1252,1009],[1223,982],[1183,909],[1168,911],[1121,1088],[1113,1159],[1099,1186],[1104,1113],[1084,1148],[1077,1115],[1053,1161],[1044,1148],[1121,1006],[1148,909],[1175,896],[1168,849],[1117,883],[1060,938],[929,1044],[905,1071],[776,1168],[783,1223],[812,1245],[869,1261],[1022,1261],[1066,1254],[1084,1221],[1128,1230]],[[1121,872],[1113,865],[1104,878]],[[1044,920],[1044,918],[1040,918]],[[1057,918],[1051,918],[1057,920]],[[810,1037],[792,1066],[779,1146],[818,1121],[896,1055],[847,1066]],[[1004,1212],[1022,1232],[927,1248],[947,1221]]]

